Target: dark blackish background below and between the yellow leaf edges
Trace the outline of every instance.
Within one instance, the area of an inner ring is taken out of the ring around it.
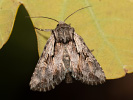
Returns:
[[[39,57],[32,22],[25,16],[21,5],[11,37],[0,50],[0,100],[133,100],[133,74],[97,86],[63,81],[49,92],[31,91],[29,82]]]

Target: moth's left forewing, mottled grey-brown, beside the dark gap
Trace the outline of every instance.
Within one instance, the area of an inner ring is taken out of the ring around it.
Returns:
[[[59,48],[59,51],[57,51],[57,48]],[[55,38],[52,34],[31,77],[30,88],[32,90],[51,90],[65,78],[66,73],[62,62],[63,53],[61,50],[60,45],[55,45]]]

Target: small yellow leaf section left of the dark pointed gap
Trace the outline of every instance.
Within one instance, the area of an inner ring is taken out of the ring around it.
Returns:
[[[13,0],[0,0],[0,48],[7,42],[20,3]]]

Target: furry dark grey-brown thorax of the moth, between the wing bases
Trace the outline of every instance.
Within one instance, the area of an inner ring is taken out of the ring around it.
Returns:
[[[68,43],[73,40],[74,28],[65,22],[59,22],[54,30],[56,42]]]

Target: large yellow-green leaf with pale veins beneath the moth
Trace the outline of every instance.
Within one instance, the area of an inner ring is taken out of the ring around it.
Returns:
[[[91,5],[92,7],[75,13],[66,20],[66,23],[70,23],[87,46],[94,49],[93,54],[102,66],[107,79],[120,78],[126,72],[133,72],[132,0],[23,0],[22,3],[31,17],[45,16],[58,21],[63,21],[79,8]],[[15,13],[11,15],[14,18]],[[0,16],[0,20],[2,18]],[[7,18],[5,20],[8,21]],[[57,25],[56,22],[43,18],[33,18],[32,22],[35,27],[41,29],[54,29]],[[2,36],[6,34],[5,29],[3,30],[0,33]],[[36,30],[39,55],[50,34]],[[7,38],[9,35],[7,34]],[[1,46],[7,38],[2,41]]]

